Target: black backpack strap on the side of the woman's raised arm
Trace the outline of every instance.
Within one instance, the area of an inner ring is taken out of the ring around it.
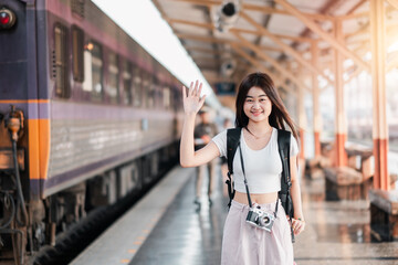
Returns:
[[[232,128],[227,130],[227,163],[228,163],[228,180],[226,181],[228,187],[228,195],[230,201],[228,208],[231,206],[232,199],[234,197],[233,181],[231,176],[233,174],[233,158],[238,149],[242,128]]]

